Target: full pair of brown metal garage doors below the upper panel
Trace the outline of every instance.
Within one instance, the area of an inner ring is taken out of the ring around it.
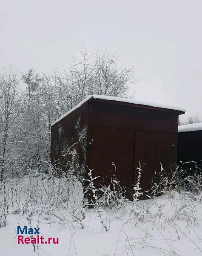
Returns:
[[[97,186],[108,185],[112,175],[128,188],[137,178],[139,161],[142,188],[149,189],[160,163],[170,172],[176,163],[177,135],[93,126],[90,167],[95,169]],[[115,168],[115,166],[116,168]]]

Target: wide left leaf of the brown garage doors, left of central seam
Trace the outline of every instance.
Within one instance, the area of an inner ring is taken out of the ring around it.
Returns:
[[[134,134],[135,131],[93,126],[91,147],[91,169],[94,169],[97,186],[108,185],[112,175],[126,187],[134,179]],[[112,164],[116,165],[116,171]]]

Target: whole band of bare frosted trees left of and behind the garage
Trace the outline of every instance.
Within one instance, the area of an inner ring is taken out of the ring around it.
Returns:
[[[22,75],[26,89],[18,90],[17,74],[0,76],[0,178],[5,168],[46,167],[50,156],[51,123],[86,96],[129,96],[133,70],[119,67],[107,52],[79,52],[63,69]],[[9,166],[10,164],[10,166]]]

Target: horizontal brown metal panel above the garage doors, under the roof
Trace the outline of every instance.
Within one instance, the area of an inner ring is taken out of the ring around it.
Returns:
[[[176,134],[178,114],[111,102],[89,102],[89,125]]]

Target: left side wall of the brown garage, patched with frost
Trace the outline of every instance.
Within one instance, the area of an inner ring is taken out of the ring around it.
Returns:
[[[71,155],[66,153],[74,143],[71,150],[77,154],[76,161],[80,163],[80,166],[86,166],[87,142],[84,140],[87,140],[87,130],[88,102],[51,127],[51,162],[59,163],[61,172],[66,171],[65,166],[68,161],[71,161]]]

